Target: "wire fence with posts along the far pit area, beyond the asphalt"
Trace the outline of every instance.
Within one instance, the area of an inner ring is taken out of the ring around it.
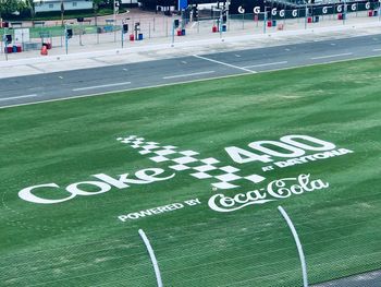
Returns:
[[[380,8],[365,11],[348,9],[341,13],[337,12],[337,9],[327,8],[324,11],[294,9],[279,10],[275,13],[268,11],[258,14],[231,14],[226,19],[220,13],[214,13],[208,17],[199,17],[197,21],[181,16],[134,17],[131,15],[115,23],[98,21],[98,25],[88,22],[66,22],[64,26],[61,26],[60,23],[50,26],[23,25],[0,29],[1,53],[15,52],[17,47],[20,47],[19,50],[25,51],[39,50],[42,46],[47,46],[48,49],[56,48],[62,53],[69,53],[88,49],[89,46],[97,49],[97,45],[123,48],[133,40],[177,43],[228,35],[259,35],[284,29],[374,22],[380,21]],[[5,37],[7,35],[10,35],[9,38]]]

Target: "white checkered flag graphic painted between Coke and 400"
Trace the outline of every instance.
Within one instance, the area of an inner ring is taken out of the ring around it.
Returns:
[[[188,170],[189,175],[197,179],[211,179],[211,183],[218,189],[238,188],[238,180],[248,180],[251,183],[259,183],[265,180],[258,175],[242,177],[237,175],[238,168],[224,166],[213,157],[201,158],[199,153],[194,151],[179,151],[173,145],[160,145],[156,142],[147,142],[144,137],[130,135],[118,137],[121,143],[127,144],[138,151],[142,155],[148,155],[155,163],[168,163],[169,168],[175,171]]]

